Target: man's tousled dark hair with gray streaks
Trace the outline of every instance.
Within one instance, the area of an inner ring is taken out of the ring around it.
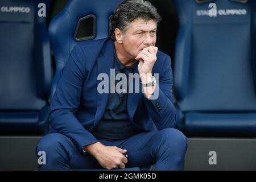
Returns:
[[[125,0],[119,3],[109,21],[110,38],[115,40],[115,28],[119,28],[125,34],[127,26],[135,19],[154,20],[156,23],[162,20],[156,8],[150,2]]]

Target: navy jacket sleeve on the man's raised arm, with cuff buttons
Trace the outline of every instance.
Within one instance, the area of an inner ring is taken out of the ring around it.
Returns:
[[[158,130],[174,127],[176,122],[176,109],[172,94],[171,58],[169,56],[166,56],[161,70],[163,72],[159,73],[159,82],[154,93],[149,99],[144,97],[148,113]]]

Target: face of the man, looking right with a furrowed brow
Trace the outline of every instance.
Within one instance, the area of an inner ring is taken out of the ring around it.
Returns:
[[[154,20],[147,22],[142,19],[136,19],[129,24],[125,35],[123,35],[122,45],[126,53],[135,58],[148,46],[155,46],[156,27]]]

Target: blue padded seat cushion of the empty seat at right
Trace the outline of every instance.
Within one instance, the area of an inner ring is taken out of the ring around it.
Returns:
[[[256,113],[187,113],[189,135],[256,136]]]

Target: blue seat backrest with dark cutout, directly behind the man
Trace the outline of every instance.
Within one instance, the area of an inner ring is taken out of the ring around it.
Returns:
[[[56,60],[56,72],[51,97],[55,93],[60,71],[68,60],[73,47],[81,41],[103,39],[109,36],[109,18],[121,0],[70,0],[65,8],[52,19],[49,38]],[[92,19],[84,24],[86,19]],[[81,28],[89,29],[89,36],[82,37]]]

